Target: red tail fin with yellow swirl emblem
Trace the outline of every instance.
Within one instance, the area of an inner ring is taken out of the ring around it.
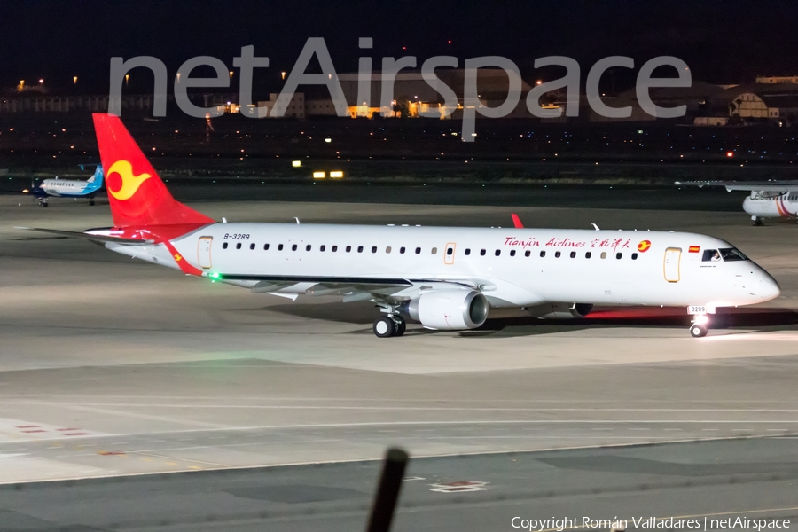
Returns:
[[[93,117],[116,227],[214,222],[172,198],[118,116]]]

